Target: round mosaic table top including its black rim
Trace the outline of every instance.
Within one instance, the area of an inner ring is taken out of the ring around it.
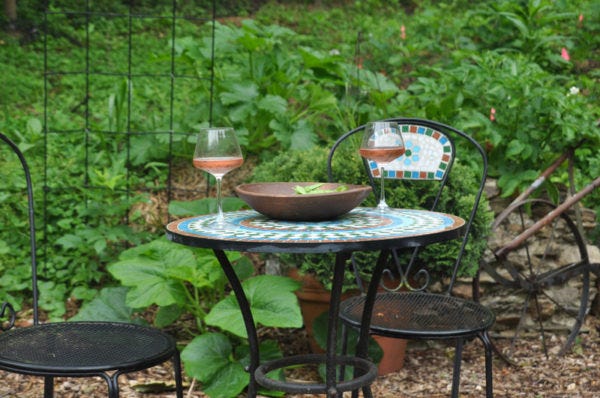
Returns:
[[[416,209],[358,207],[329,221],[281,221],[254,210],[224,213],[226,227],[216,229],[215,215],[169,223],[167,237],[188,246],[246,252],[324,253],[414,247],[460,236],[465,221],[457,216]]]

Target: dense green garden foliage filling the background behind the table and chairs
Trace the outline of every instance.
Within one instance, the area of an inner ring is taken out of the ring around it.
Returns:
[[[127,2],[90,3],[105,15],[91,29],[85,19],[50,13],[44,43],[41,6],[20,1],[16,30],[4,20],[0,36],[0,130],[33,166],[38,222],[45,222],[38,225],[43,305],[53,317],[64,315],[67,298],[87,301],[117,284],[107,265],[123,249],[162,237],[160,223],[139,209],[166,189],[173,167],[189,162],[193,132],[210,114],[210,24],[181,21],[172,47],[168,18],[115,18],[129,12]],[[213,124],[236,128],[249,162],[327,147],[368,120],[403,115],[472,134],[507,197],[582,139],[577,187],[600,175],[596,1],[217,3]],[[76,7],[50,4],[51,11]],[[140,13],[173,11],[168,1],[136,4]],[[207,1],[177,8],[201,18],[210,11]],[[44,81],[44,62],[76,71],[86,57],[92,69],[131,66],[140,76],[96,74],[88,98],[81,76]],[[152,77],[169,71],[171,59],[178,74],[191,76],[178,80],[174,97],[169,79]],[[87,142],[45,134],[82,125],[92,131]],[[29,277],[22,183],[4,152],[0,164],[0,297],[20,306]],[[42,189],[45,177],[51,186]],[[563,167],[545,188],[558,199],[567,179]],[[586,204],[598,210],[599,196]],[[590,239],[598,242],[598,234]]]

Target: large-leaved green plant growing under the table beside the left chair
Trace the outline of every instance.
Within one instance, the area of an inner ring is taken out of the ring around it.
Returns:
[[[226,210],[243,205],[239,199],[227,199]],[[171,212],[203,213],[211,211],[213,202],[173,202]],[[234,252],[228,253],[228,258],[242,281],[257,324],[302,326],[293,293],[299,287],[297,282],[273,275],[253,276],[255,270],[248,257]],[[203,391],[211,397],[235,397],[246,387],[249,349],[245,325],[211,250],[188,248],[163,237],[123,251],[108,270],[123,287],[102,289],[73,320],[143,322],[140,314],[153,307],[157,327],[178,322],[178,327],[184,328],[182,318],[191,316],[195,322],[187,332],[193,338],[181,354],[187,374],[200,380]],[[281,356],[273,341],[262,342],[260,354],[263,361]]]

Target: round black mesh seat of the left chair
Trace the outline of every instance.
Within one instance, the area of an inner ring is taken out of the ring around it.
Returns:
[[[175,355],[175,341],[148,327],[112,322],[60,322],[0,334],[0,368],[77,375],[133,371]]]

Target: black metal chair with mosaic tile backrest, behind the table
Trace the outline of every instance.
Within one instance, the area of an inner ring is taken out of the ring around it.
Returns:
[[[466,219],[464,238],[453,266],[448,286],[442,293],[428,292],[430,274],[417,266],[419,248],[410,253],[406,262],[399,260],[393,252],[392,269],[386,269],[384,276],[396,278],[393,287],[381,284],[375,296],[369,333],[401,339],[455,339],[456,351],[452,380],[452,397],[458,397],[462,349],[465,339],[478,337],[485,347],[486,396],[493,396],[492,387],[492,344],[488,330],[494,324],[494,314],[483,305],[452,295],[464,250],[471,232],[487,175],[487,158],[481,146],[470,136],[450,126],[423,119],[394,118],[399,123],[406,145],[406,153],[386,170],[386,178],[398,180],[437,181],[437,194],[431,210],[438,209],[438,202],[454,166],[458,150],[474,152],[479,162],[480,176],[478,190],[473,193],[473,204]],[[340,137],[332,146],[328,159],[328,176],[333,181],[333,157],[342,142],[354,134],[361,133],[364,126],[358,127]],[[460,142],[460,146],[458,145]],[[364,161],[369,180],[376,190],[374,175],[379,176],[375,162]],[[357,267],[356,261],[353,261]],[[356,272],[356,268],[355,268]],[[358,278],[357,278],[358,279]],[[365,295],[355,296],[342,302],[340,318],[344,325],[342,337],[347,345],[347,327],[359,329],[365,303]]]

